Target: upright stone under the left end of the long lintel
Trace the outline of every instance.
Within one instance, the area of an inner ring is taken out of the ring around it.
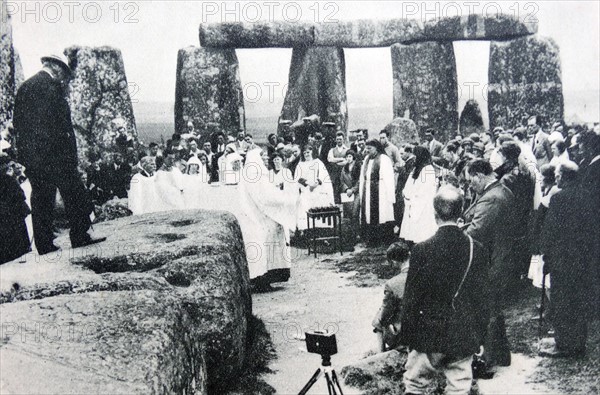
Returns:
[[[244,97],[235,49],[187,47],[177,56],[175,131],[191,121],[206,136],[211,125],[228,134],[245,129]]]

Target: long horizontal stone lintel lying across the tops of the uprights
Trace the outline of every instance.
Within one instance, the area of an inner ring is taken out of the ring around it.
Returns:
[[[422,23],[416,18],[342,21],[324,12],[322,22],[223,22],[200,25],[206,48],[389,47],[417,42],[510,40],[537,33],[533,15],[470,14]]]

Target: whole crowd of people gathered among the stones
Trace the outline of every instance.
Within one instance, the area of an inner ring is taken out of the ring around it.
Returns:
[[[17,144],[11,147],[7,135],[2,139],[0,263],[31,250],[24,227],[28,188],[33,236],[38,253],[45,254],[57,249],[51,214],[57,189],[77,247],[104,240],[87,234],[89,202],[127,197],[131,211],[142,214],[204,207],[210,187],[239,186],[230,190],[242,195],[240,215],[254,213],[240,220],[242,228],[260,233],[265,218],[279,227],[261,242],[280,238],[289,247],[292,236],[306,236],[307,212],[330,206],[342,209],[352,245],[402,240],[406,251],[398,260],[408,269],[396,280],[401,292],[392,300],[402,306],[402,342],[412,350],[407,389],[418,393],[432,365],[464,389],[465,366],[480,346],[488,367],[510,365],[503,313],[507,296],[526,278],[550,289],[555,348],[547,355],[585,353],[587,321],[600,306],[598,124],[565,128],[532,116],[512,129],[458,133],[446,143],[437,140],[439,131],[428,129],[422,141],[401,146],[392,143],[390,130],[375,138],[365,129],[345,135],[316,116],[281,122],[264,147],[243,130],[235,137],[206,136],[192,123],[160,146],[137,146],[121,130],[118,150],[93,159],[80,177],[61,94],[70,69],[57,57],[43,62],[44,70],[17,95]],[[15,154],[21,164],[11,158]],[[287,269],[289,277],[289,265],[267,266],[251,268],[251,277],[272,268]],[[459,293],[468,305],[454,309],[462,311],[463,326],[444,321],[441,313],[454,307]],[[386,315],[380,314],[377,328],[388,326]]]

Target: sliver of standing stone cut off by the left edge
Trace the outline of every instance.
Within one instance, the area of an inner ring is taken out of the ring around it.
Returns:
[[[0,1],[0,131],[12,119],[15,104],[15,65],[12,26],[6,3]]]

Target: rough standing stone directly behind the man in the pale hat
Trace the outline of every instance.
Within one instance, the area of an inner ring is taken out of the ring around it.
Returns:
[[[117,127],[137,145],[137,129],[121,51],[111,47],[70,47],[65,50],[73,69],[69,103],[79,153],[86,168],[91,156],[119,151]]]

